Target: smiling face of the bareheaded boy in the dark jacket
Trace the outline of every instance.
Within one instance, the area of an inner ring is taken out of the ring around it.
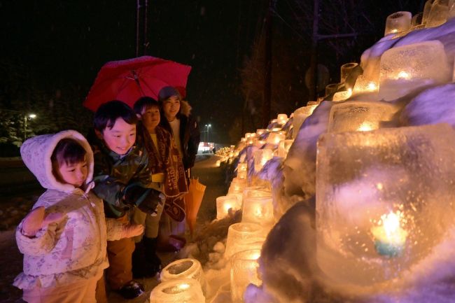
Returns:
[[[118,155],[125,155],[136,141],[136,125],[128,124],[119,117],[111,129],[106,127],[102,133],[97,134],[110,150]]]

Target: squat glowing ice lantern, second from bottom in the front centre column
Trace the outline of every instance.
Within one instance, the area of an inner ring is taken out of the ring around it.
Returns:
[[[255,223],[235,223],[228,228],[225,258],[229,259],[239,251],[260,249],[265,241],[265,230]]]

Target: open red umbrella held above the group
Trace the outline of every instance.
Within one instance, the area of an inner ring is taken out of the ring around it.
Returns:
[[[107,62],[83,105],[96,111],[101,104],[117,99],[133,106],[144,96],[158,100],[158,92],[168,85],[184,96],[190,70],[191,66],[151,56]]]

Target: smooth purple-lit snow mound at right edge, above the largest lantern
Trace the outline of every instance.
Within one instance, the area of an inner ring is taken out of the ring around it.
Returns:
[[[407,104],[400,117],[406,125],[447,122],[455,127],[455,84],[426,90]]]

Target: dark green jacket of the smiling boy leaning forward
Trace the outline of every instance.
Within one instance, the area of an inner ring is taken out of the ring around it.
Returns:
[[[87,139],[94,157],[93,191],[104,200],[106,217],[120,218],[130,207],[122,202],[127,185],[139,183],[148,188],[152,183],[147,150],[136,143],[126,155],[118,155],[109,150],[94,132]]]

